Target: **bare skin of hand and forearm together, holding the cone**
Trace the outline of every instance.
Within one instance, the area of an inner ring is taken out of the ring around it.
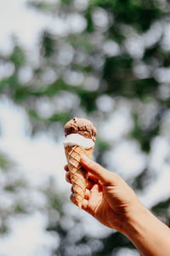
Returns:
[[[82,156],[88,171],[88,185],[82,209],[105,226],[122,232],[143,256],[169,256],[170,230],[139,201],[122,177]],[[71,183],[68,166],[65,178]],[[74,193],[71,188],[71,201]]]

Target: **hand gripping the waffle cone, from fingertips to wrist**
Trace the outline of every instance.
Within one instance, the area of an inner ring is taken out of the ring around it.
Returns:
[[[88,185],[82,209],[100,223],[123,233],[123,224],[139,204],[138,198],[115,172],[105,170],[87,157],[81,158],[81,164],[88,171]],[[65,171],[66,181],[71,183],[68,166],[65,166]],[[73,192],[72,188],[71,191]],[[71,201],[75,203],[74,194],[71,194]]]

